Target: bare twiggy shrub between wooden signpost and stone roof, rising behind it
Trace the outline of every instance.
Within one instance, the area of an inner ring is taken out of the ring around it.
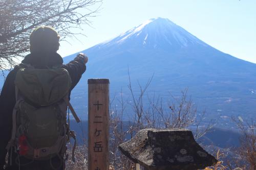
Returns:
[[[174,98],[172,95],[172,103],[163,103],[160,96],[150,96],[146,94],[147,88],[150,86],[153,77],[148,79],[144,86],[139,86],[139,92],[135,92],[129,75],[129,91],[132,96],[131,102],[125,102],[120,92],[120,99],[112,100],[111,102],[111,120],[110,120],[110,163],[115,169],[130,170],[134,168],[134,163],[123,156],[118,150],[118,145],[132,138],[140,129],[145,128],[188,128],[189,125],[201,123],[202,119],[196,122],[197,107],[188,97],[187,89],[181,92],[179,98]],[[118,108],[113,105],[114,101],[118,102]],[[146,103],[146,104],[145,104]],[[131,106],[133,114],[129,114],[129,120],[123,120],[123,115],[127,106]],[[204,114],[202,114],[204,116]],[[199,131],[197,137],[201,137],[212,126],[208,126],[204,131]]]

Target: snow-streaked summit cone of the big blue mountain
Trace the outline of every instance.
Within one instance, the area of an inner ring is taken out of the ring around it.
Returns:
[[[172,48],[177,49],[191,44],[206,45],[194,35],[176,25],[169,19],[154,18],[143,22],[125,33],[103,42],[102,45],[130,45],[148,48]]]

